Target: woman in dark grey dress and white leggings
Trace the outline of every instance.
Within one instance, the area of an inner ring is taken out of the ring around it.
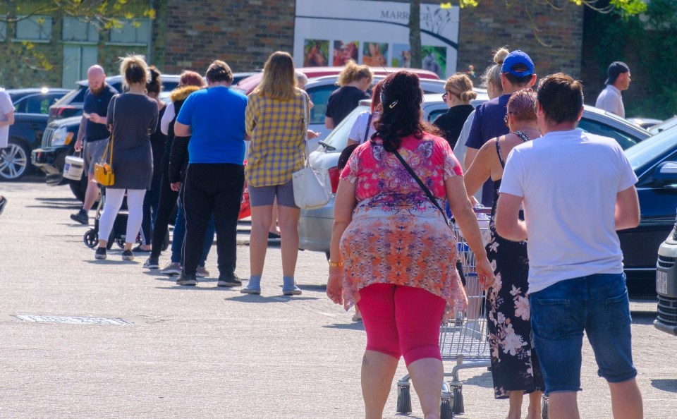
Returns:
[[[134,260],[132,245],[141,229],[143,198],[153,178],[150,135],[157,128],[158,109],[157,102],[146,95],[150,71],[143,56],[123,59],[120,74],[128,89],[111,99],[106,117],[113,143],[108,158],[112,156],[115,183],[106,186],[106,203],[99,219],[99,248],[94,257],[106,259],[108,238],[126,192],[129,215],[122,260]]]

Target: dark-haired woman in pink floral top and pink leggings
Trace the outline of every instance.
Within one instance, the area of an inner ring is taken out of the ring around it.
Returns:
[[[417,76],[389,75],[381,99],[377,133],[355,149],[336,192],[327,295],[346,310],[357,304],[362,313],[366,417],[382,417],[403,356],[425,417],[439,418],[439,325],[454,310],[465,310],[467,299],[454,264],[453,233],[394,152],[441,207],[449,200],[484,286],[494,275],[461,166],[444,138],[426,133],[432,128],[422,122]]]

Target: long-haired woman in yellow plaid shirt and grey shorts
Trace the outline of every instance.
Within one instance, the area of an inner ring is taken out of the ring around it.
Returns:
[[[282,293],[298,295],[294,282],[298,257],[299,209],[291,174],[304,166],[310,99],[296,87],[294,62],[286,52],[269,56],[261,84],[249,95],[245,127],[251,137],[245,176],[252,207],[250,278],[242,293],[260,294],[273,203],[277,198],[282,252]]]

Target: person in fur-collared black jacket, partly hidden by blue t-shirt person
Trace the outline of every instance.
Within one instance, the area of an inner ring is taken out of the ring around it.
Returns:
[[[178,115],[178,111],[181,109],[185,99],[188,98],[190,93],[200,90],[202,87],[205,87],[205,81],[202,79],[200,74],[195,73],[195,71],[184,71],[181,73],[179,85],[171,92],[171,103],[167,105],[163,119],[160,123],[162,132],[166,133],[167,135],[167,140],[164,145],[164,154],[162,155],[161,160],[162,178],[160,181],[160,199],[153,229],[152,251],[150,257],[148,257],[144,263],[144,267],[149,269],[159,268],[159,255],[162,249],[162,243],[164,241],[164,237],[166,236],[167,229],[169,228],[169,219],[171,218],[171,214],[178,198],[178,189],[171,189],[171,181],[169,178],[171,146],[173,144],[173,140],[175,139],[173,130],[174,121],[176,121],[176,115]],[[186,164],[188,164],[187,157]],[[181,166],[179,165],[179,167]],[[179,178],[179,180],[181,180],[181,178]],[[176,181],[176,179],[174,179],[174,181]],[[177,234],[175,230],[173,241],[177,241],[176,236]],[[178,243],[179,248],[181,247],[182,243],[183,239],[181,239],[181,243]],[[162,269],[161,273],[178,275],[180,272],[181,251],[179,250],[178,257],[173,257],[172,260],[167,263],[166,267]],[[208,272],[198,269],[198,274],[208,274]]]

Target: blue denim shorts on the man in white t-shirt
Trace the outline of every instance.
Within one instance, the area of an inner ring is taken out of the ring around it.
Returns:
[[[546,394],[580,390],[584,330],[597,360],[597,375],[612,383],[637,375],[625,274],[566,279],[530,294],[529,299]]]

